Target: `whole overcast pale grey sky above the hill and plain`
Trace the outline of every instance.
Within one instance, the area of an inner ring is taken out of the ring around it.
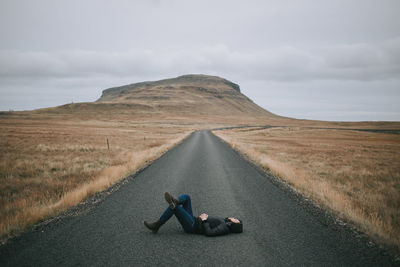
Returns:
[[[400,120],[398,0],[0,0],[0,110],[217,75],[279,115]]]

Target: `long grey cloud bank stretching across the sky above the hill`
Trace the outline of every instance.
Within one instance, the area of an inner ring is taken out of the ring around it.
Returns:
[[[0,77],[158,76],[222,73],[256,80],[382,80],[400,77],[400,37],[378,44],[233,51],[224,44],[196,51],[131,50],[0,52]]]

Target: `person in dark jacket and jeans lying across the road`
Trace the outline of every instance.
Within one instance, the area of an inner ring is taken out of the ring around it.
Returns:
[[[186,233],[217,236],[243,232],[242,221],[233,217],[223,219],[220,217],[208,216],[205,213],[201,214],[199,217],[194,217],[189,195],[181,195],[175,198],[171,196],[170,193],[165,192],[164,196],[169,207],[161,215],[160,219],[153,223],[144,221],[144,225],[153,231],[153,233],[157,233],[161,225],[166,223],[172,215],[176,216]]]

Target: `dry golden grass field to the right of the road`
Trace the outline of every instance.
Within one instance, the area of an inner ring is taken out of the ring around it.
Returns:
[[[400,250],[399,134],[307,127],[215,134],[315,203]]]

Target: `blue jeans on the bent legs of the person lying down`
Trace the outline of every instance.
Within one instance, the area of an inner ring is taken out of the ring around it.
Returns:
[[[160,217],[161,223],[166,223],[172,215],[178,219],[186,233],[193,233],[194,231],[194,216],[192,212],[192,201],[189,195],[180,195],[178,197],[179,205],[175,209],[168,207]]]

